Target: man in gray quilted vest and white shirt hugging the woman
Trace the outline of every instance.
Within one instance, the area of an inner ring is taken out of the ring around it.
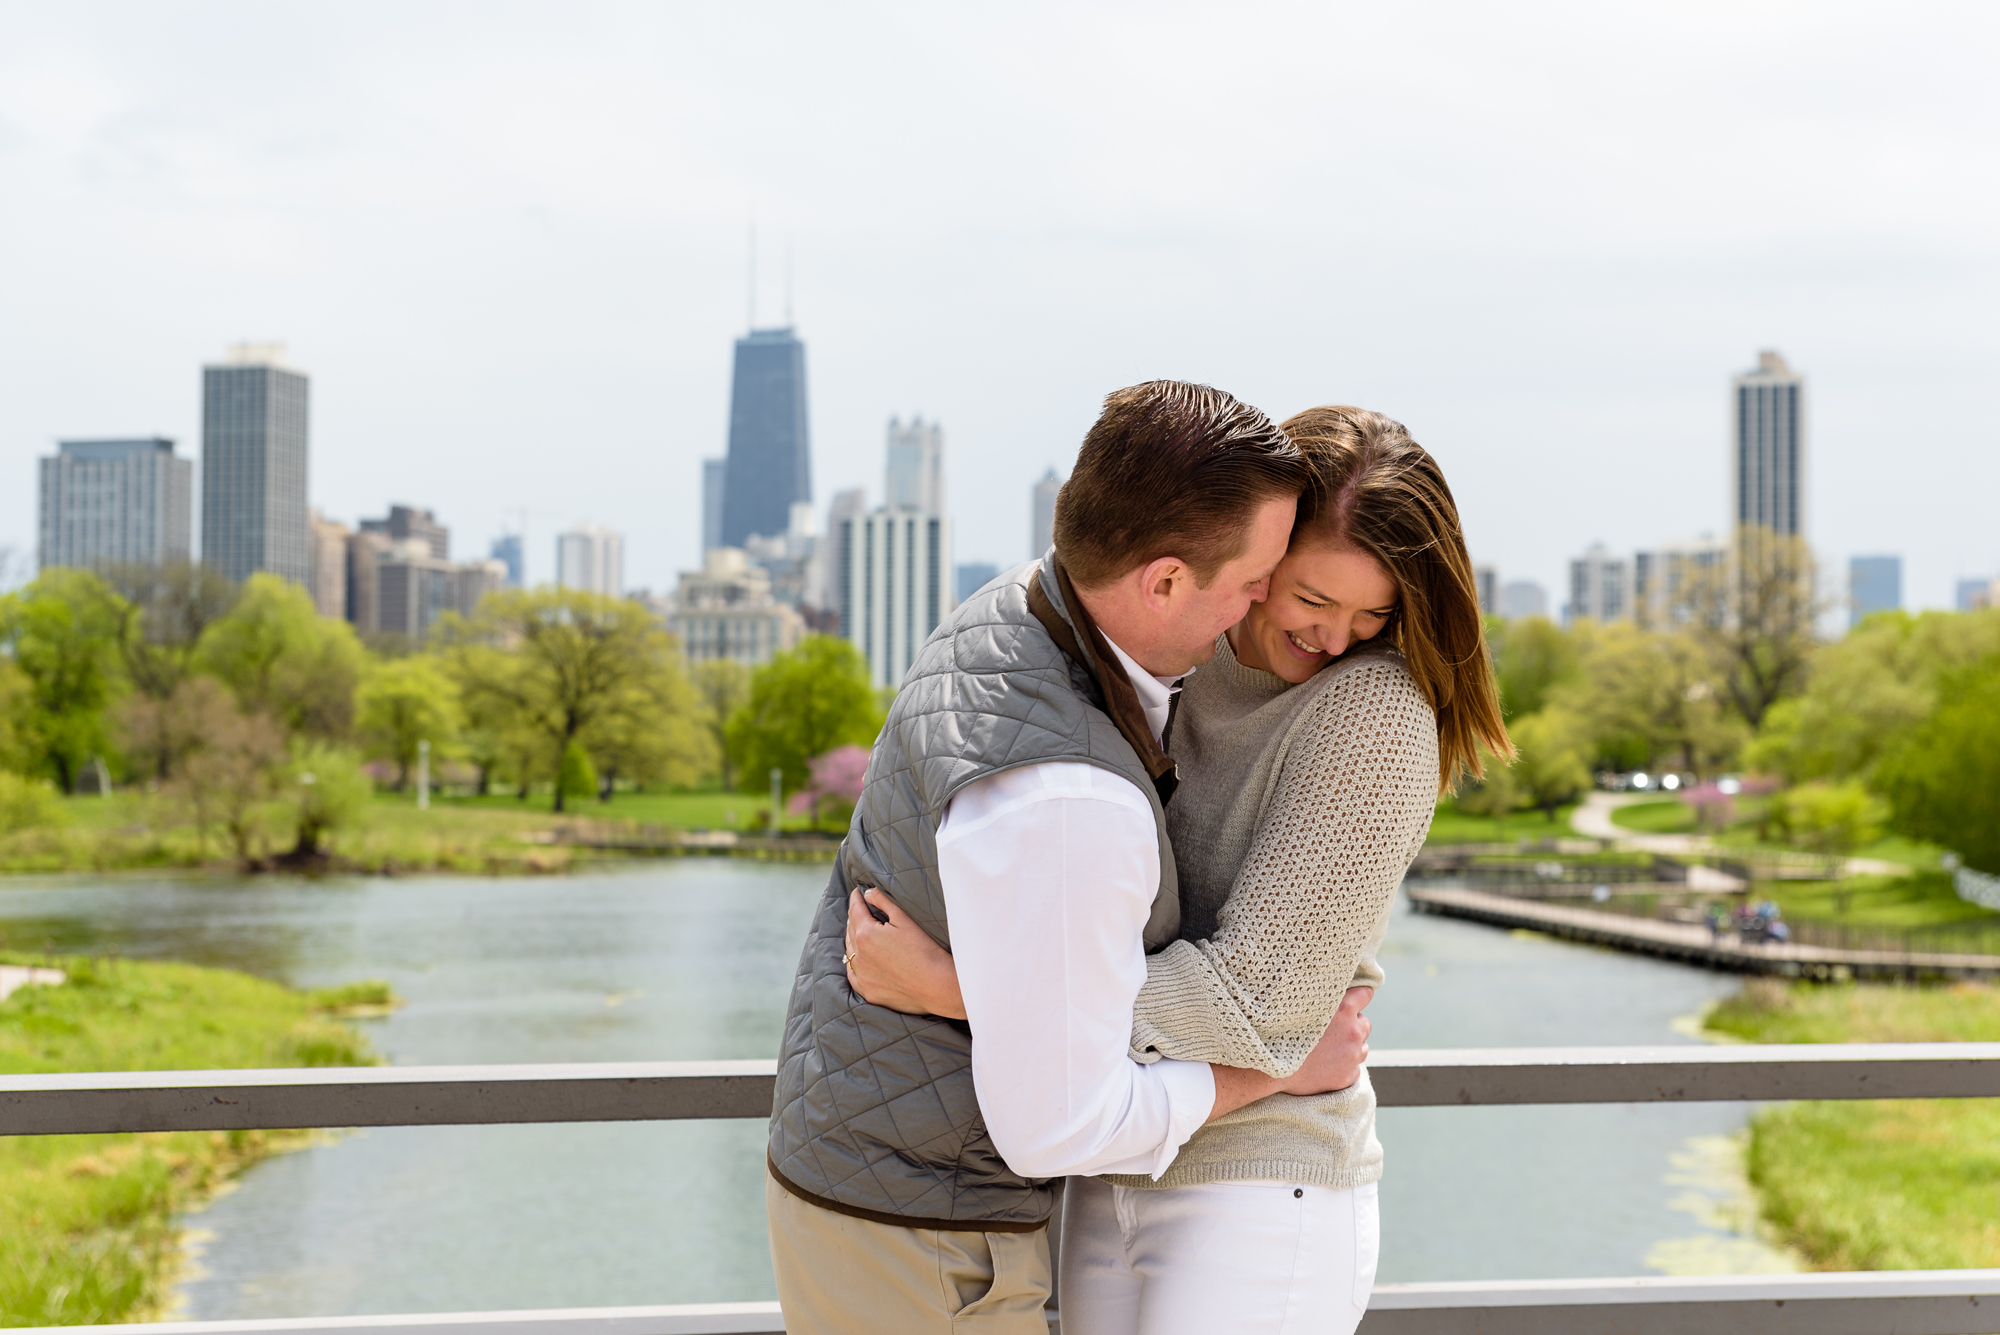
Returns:
[[[786,1015],[766,1209],[794,1335],[1040,1335],[1048,1179],[1158,1175],[1204,1121],[1348,1079],[1128,1057],[1144,953],[1180,917],[1172,691],[1264,598],[1306,482],[1228,394],[1120,390],[1056,502],[1054,552],[926,642]],[[968,1021],[854,993],[854,885],[954,951]]]

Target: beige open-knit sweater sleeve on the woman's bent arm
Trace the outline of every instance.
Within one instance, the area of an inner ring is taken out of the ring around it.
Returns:
[[[1378,983],[1396,885],[1438,799],[1438,721],[1400,660],[1364,660],[1294,725],[1208,941],[1146,961],[1132,1055],[1292,1075],[1342,993]]]

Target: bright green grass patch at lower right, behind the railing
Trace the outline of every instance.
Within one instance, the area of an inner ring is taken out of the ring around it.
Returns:
[[[2000,1039],[2000,987],[1756,979],[1708,1015],[1752,1043]],[[2000,1099],[1784,1103],[1750,1123],[1764,1217],[1820,1269],[2000,1265]]]

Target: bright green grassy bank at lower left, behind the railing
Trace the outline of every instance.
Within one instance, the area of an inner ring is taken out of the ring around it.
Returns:
[[[380,983],[306,995],[178,963],[52,963],[66,983],[0,1001],[0,1073],[368,1065],[368,1041],[336,1015],[388,1001]],[[0,1139],[0,1325],[164,1315],[174,1217],[302,1141],[296,1131]]]

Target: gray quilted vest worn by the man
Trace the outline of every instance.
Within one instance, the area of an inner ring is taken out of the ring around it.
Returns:
[[[1028,610],[1022,566],[964,602],[924,642],[868,759],[792,983],[770,1117],[770,1169],[796,1195],[864,1219],[1010,1231],[1048,1221],[1046,1181],[1000,1159],[972,1093],[974,1035],[960,1021],[900,1015],[848,987],[848,889],[880,885],[946,949],[938,823],[960,787],[1000,769],[1084,761],[1122,773],[1152,803],[1160,887],[1146,949],[1174,939],[1180,893],[1166,815],[1138,753],[1106,717],[1090,673]],[[1110,664],[1118,671],[1118,664]]]

